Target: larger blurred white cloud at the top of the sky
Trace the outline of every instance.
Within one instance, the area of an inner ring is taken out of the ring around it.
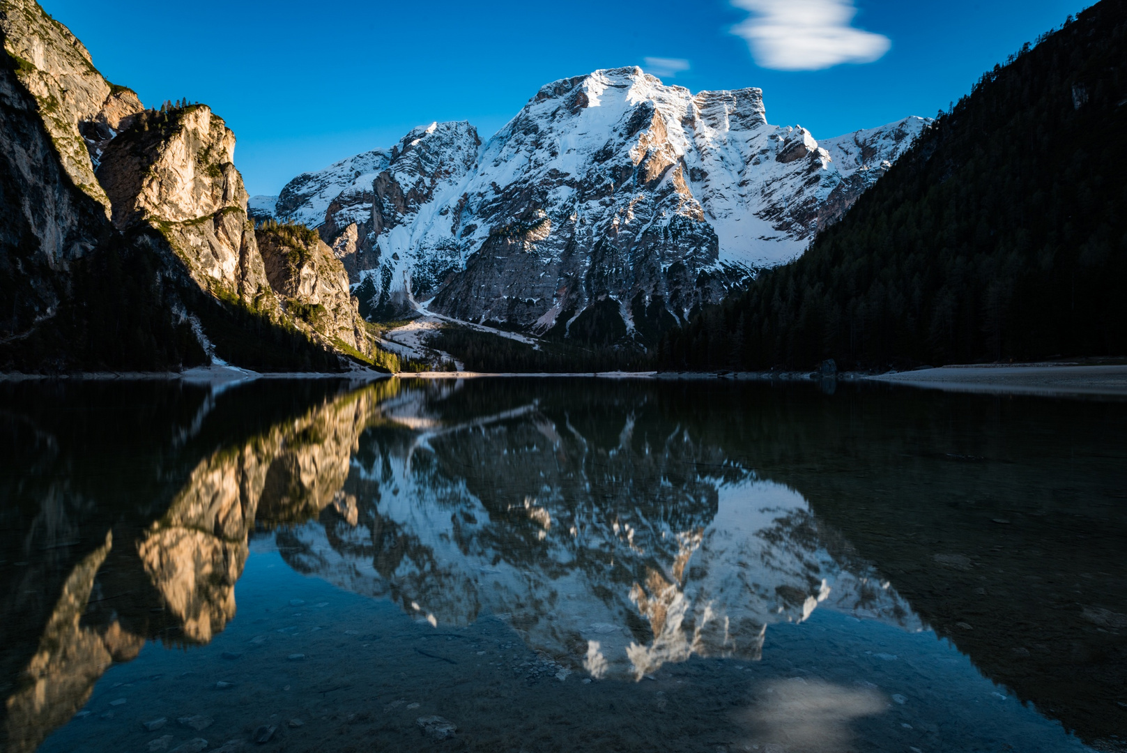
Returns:
[[[881,34],[853,28],[853,0],[731,0],[752,14],[731,33],[747,39],[755,62],[780,71],[871,63],[888,52]]]

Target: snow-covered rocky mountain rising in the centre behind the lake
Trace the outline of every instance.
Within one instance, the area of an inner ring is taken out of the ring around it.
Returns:
[[[429,300],[538,335],[653,343],[800,255],[926,124],[818,142],[770,125],[760,89],[602,70],[541,88],[485,143],[434,123],[251,203],[318,229],[370,317]]]

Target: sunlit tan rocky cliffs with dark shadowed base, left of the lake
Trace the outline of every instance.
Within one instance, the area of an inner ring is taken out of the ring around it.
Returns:
[[[268,274],[259,239],[272,231],[248,220],[222,118],[186,101],[144,108],[32,0],[0,2],[0,369],[371,361],[327,248],[319,278],[336,267],[335,295],[281,284],[312,274],[301,264]]]

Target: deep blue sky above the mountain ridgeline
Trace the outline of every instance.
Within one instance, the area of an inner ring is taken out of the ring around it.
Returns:
[[[1091,2],[43,5],[147,105],[211,105],[238,136],[247,188],[275,194],[299,172],[388,147],[418,124],[467,119],[487,139],[542,85],[600,68],[642,65],[693,91],[761,87],[771,123],[815,138],[934,115]]]

